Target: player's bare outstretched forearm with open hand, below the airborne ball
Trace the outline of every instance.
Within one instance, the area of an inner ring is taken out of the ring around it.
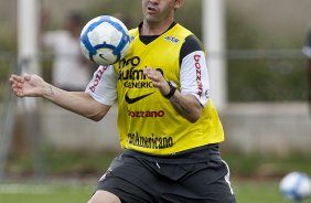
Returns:
[[[96,121],[100,120],[110,109],[110,106],[96,101],[87,93],[60,89],[37,75],[19,76],[12,74],[9,81],[12,92],[18,97],[42,97],[64,109]]]

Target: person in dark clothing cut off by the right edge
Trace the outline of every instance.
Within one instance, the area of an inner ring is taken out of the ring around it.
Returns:
[[[303,47],[303,53],[308,57],[308,62],[307,62],[307,79],[308,79],[307,96],[308,96],[308,103],[309,103],[309,108],[310,108],[310,113],[311,113],[311,30],[309,30],[309,32],[308,32],[307,43]]]

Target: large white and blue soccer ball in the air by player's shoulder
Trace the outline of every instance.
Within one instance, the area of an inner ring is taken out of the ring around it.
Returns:
[[[111,65],[122,60],[130,46],[127,26],[117,18],[101,15],[92,19],[81,33],[83,54],[98,65]]]

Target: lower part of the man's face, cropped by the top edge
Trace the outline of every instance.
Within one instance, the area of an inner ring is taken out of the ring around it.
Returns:
[[[173,19],[176,0],[142,0],[143,18],[149,23]]]

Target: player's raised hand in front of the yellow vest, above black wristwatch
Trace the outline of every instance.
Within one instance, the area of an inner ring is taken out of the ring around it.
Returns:
[[[170,86],[161,72],[151,67],[146,67],[143,74],[152,81],[153,86],[158,88],[162,95],[168,95],[170,93]]]

